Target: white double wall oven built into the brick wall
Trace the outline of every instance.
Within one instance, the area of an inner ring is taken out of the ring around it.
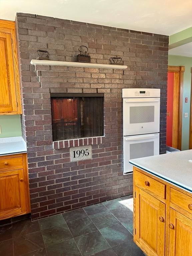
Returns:
[[[130,159],[159,155],[160,89],[122,89],[123,174]]]

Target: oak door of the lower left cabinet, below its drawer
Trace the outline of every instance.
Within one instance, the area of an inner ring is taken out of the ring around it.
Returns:
[[[26,213],[24,170],[0,172],[0,219]]]

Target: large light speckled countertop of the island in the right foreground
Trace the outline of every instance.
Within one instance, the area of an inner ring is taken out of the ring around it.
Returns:
[[[131,159],[129,163],[192,192],[192,149]]]

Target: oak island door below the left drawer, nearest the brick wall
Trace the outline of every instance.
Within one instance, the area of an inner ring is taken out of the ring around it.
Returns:
[[[164,256],[165,204],[136,186],[134,241],[152,256]]]

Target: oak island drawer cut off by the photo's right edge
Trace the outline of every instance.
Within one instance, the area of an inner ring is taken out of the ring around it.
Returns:
[[[170,202],[192,214],[192,195],[188,196],[170,188]]]

